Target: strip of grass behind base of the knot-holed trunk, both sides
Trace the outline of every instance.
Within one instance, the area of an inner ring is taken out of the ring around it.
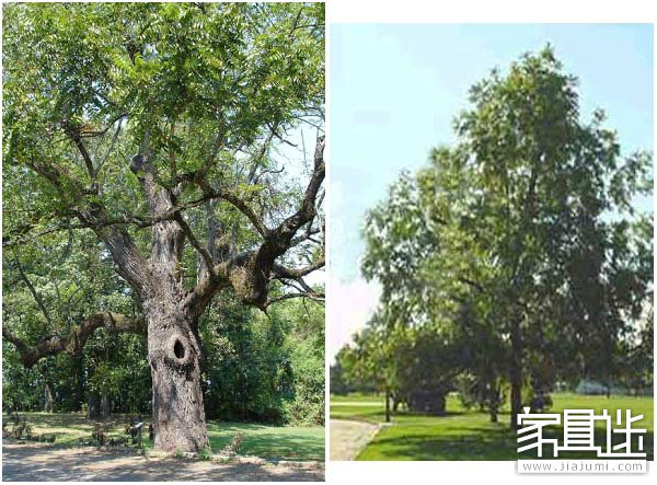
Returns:
[[[88,422],[81,413],[20,413],[25,416],[32,426],[33,434],[56,435],[56,444],[78,444],[89,441],[93,430],[93,422]],[[113,415],[108,422],[111,430],[108,438],[118,438],[125,435],[130,416]],[[9,418],[2,415],[3,420]],[[152,441],[148,439],[148,422],[145,423],[143,446],[152,449]],[[11,425],[10,425],[11,427]],[[234,435],[244,434],[241,455],[255,455],[266,460],[324,460],[324,428],[322,427],[295,427],[269,426],[250,423],[209,422],[208,435],[214,452],[220,451],[229,444]]]

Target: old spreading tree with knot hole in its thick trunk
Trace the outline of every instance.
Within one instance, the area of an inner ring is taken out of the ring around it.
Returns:
[[[5,253],[93,233],[139,304],[136,317],[101,308],[35,344],[7,325],[3,337],[32,366],[99,327],[147,332],[155,448],[197,451],[198,321],[212,298],[230,288],[262,310],[323,298],[303,281],[324,265],[323,4],[3,13]],[[308,161],[301,125],[316,134]],[[291,157],[303,163],[281,165]],[[279,282],[293,292],[270,298]]]

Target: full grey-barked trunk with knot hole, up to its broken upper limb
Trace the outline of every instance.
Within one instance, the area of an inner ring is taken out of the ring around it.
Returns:
[[[141,184],[150,211],[162,216],[175,206],[175,196],[155,183],[149,157],[148,134],[142,143],[143,157],[132,158],[130,170]],[[143,315],[148,324],[148,360],[153,392],[154,448],[158,451],[196,452],[209,444],[200,389],[200,346],[196,337],[201,304],[189,304],[183,287],[181,261],[185,236],[199,247],[181,213],[175,221],[164,220],[152,227],[153,245],[148,264],[135,274],[146,274],[139,287]],[[115,257],[116,259],[116,257]],[[196,313],[194,312],[196,311]]]

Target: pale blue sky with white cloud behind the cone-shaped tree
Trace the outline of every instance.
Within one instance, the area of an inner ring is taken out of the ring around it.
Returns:
[[[415,171],[433,147],[453,141],[452,119],[474,82],[548,43],[579,78],[584,119],[603,107],[625,153],[653,151],[652,25],[331,25],[331,357],[378,296],[358,270],[367,208],[403,169]]]

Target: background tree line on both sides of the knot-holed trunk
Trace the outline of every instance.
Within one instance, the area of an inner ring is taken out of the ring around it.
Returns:
[[[200,332],[208,343],[201,367],[208,419],[324,424],[322,304],[290,300],[266,315],[221,298]],[[3,351],[4,412],[85,412],[102,419],[152,411],[146,336],[100,330],[79,354],[60,353],[32,368],[11,347]]]

